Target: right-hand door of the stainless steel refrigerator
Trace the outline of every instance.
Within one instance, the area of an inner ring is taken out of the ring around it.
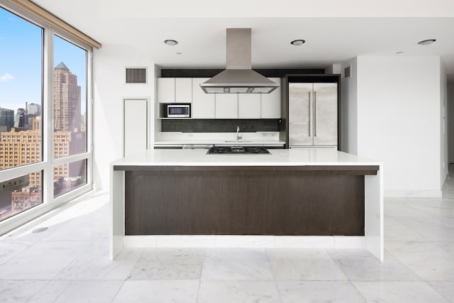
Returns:
[[[314,83],[314,145],[338,144],[338,87]]]

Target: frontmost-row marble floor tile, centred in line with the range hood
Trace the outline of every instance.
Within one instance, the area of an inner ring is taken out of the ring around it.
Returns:
[[[274,281],[201,281],[197,302],[279,303],[281,300]]]

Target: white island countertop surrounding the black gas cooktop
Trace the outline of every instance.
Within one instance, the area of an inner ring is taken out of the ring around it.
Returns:
[[[207,149],[148,150],[111,162],[121,166],[304,166],[304,165],[381,165],[331,148],[271,149],[262,155],[207,155]]]

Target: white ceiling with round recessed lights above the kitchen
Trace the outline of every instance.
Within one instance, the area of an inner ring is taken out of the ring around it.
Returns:
[[[437,55],[454,83],[454,1],[365,2],[35,0],[99,43],[129,45],[162,67],[223,68],[226,28],[244,27],[252,28],[254,68],[324,68],[359,55]],[[436,43],[416,44],[431,38]],[[179,44],[165,45],[165,39]],[[290,45],[294,39],[306,44]]]

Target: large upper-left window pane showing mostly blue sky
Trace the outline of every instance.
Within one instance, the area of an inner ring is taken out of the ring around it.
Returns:
[[[41,149],[41,123],[35,123],[41,119],[40,111],[31,111],[30,106],[43,104],[43,28],[5,9],[0,9],[0,28],[0,141],[6,143],[0,154],[11,154],[13,145]],[[21,142],[21,136],[34,136],[36,142]],[[0,160],[0,170],[43,159],[29,158],[13,165],[9,160]]]

